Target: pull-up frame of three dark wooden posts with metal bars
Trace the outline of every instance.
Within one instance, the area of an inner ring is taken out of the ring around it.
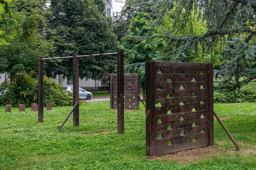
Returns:
[[[79,101],[79,57],[92,57],[117,54],[117,119],[118,119],[118,134],[124,133],[124,51],[118,49],[117,52],[104,53],[104,54],[89,54],[80,55],[74,53],[73,56],[68,57],[53,57],[43,58],[38,57],[38,122],[44,122],[44,60],[46,59],[64,59],[73,58],[73,107]],[[79,105],[73,110],[73,126],[79,126]]]

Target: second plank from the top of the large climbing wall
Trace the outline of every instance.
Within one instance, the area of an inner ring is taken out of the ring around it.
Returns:
[[[177,81],[188,81],[190,82],[193,78],[196,81],[204,82],[208,81],[208,74],[166,74],[166,73],[156,73],[155,81],[157,82],[167,82],[167,79],[172,79],[173,82]]]

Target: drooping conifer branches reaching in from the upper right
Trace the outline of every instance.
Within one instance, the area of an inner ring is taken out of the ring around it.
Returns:
[[[132,3],[132,0],[127,0]],[[134,4],[134,3],[132,3]],[[161,5],[159,5],[161,4]],[[198,57],[198,47],[201,46],[201,56],[210,58],[218,50],[224,65],[220,74],[225,76],[221,89],[234,90],[242,84],[256,78],[255,69],[255,25],[256,1],[254,0],[149,0],[146,3],[134,4],[140,8],[151,9],[149,17],[156,17],[151,29],[163,26],[163,18],[177,4],[169,18],[173,20],[172,29],[165,29],[164,34],[153,37],[166,41],[166,47],[173,47],[167,55],[171,61],[184,61],[190,55]],[[198,11],[197,18],[192,17]],[[194,20],[206,22],[207,30],[201,34],[193,31]],[[177,27],[178,26],[178,27]],[[164,26],[163,26],[164,27]],[[189,27],[186,35],[178,32]],[[143,36],[141,38],[152,38]],[[217,49],[218,48],[218,49]],[[247,50],[246,50],[247,49]],[[233,77],[236,81],[233,82]],[[243,77],[239,81],[239,77]],[[232,87],[232,88],[230,88]]]

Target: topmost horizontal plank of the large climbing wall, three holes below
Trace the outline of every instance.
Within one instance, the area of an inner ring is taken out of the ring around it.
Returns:
[[[208,73],[209,67],[205,66],[176,66],[176,65],[155,65],[155,73],[159,72],[159,70],[162,73],[175,73],[180,74],[182,71],[185,74],[200,74],[202,73]]]

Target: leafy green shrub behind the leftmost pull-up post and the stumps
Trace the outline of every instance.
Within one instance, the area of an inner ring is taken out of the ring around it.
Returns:
[[[3,82],[1,87],[12,89],[12,91],[8,90],[1,96],[2,104],[6,105],[12,101],[13,106],[17,107],[19,104],[23,104],[29,107],[32,103],[38,103],[38,79],[32,78],[33,76],[35,76],[35,72],[15,75],[12,87],[9,81]],[[72,105],[73,98],[72,94],[63,91],[60,84],[44,76],[44,105],[47,103],[51,103],[53,106]]]

